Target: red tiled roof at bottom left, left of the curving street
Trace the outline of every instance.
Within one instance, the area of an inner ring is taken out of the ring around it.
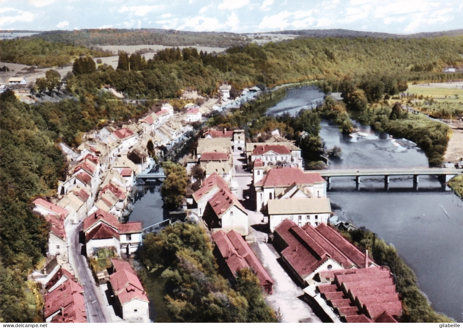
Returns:
[[[44,316],[48,318],[62,309],[62,316],[74,322],[86,322],[84,289],[72,279],[66,280],[54,291],[45,294]],[[69,306],[73,305],[73,306]],[[59,320],[59,319],[57,319]]]

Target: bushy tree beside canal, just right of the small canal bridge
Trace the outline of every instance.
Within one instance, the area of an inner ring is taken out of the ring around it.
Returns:
[[[161,186],[161,195],[165,204],[170,208],[178,208],[185,199],[188,176],[185,167],[172,161],[163,163],[166,179]]]

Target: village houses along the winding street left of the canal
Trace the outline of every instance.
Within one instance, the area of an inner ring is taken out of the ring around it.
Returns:
[[[66,181],[58,185],[57,199],[33,201],[34,211],[51,225],[48,254],[55,265],[48,268],[48,274],[47,267],[36,274],[46,286],[46,322],[87,321],[83,288],[69,266],[67,231],[72,225],[83,220],[89,257],[108,249],[114,255],[132,254],[141,245],[142,223],[119,223],[119,218],[136,176],[153,164],[146,152],[148,140],[155,147],[166,148],[181,141],[191,130],[188,124],[181,124],[185,118],[174,117],[173,107],[165,104],[137,124],[88,133],[78,149],[61,145],[71,165]],[[125,321],[149,322],[148,297],[137,275],[125,261],[113,259],[112,264],[109,285],[120,316]]]

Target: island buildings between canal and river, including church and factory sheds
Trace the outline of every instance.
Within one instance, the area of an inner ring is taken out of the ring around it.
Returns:
[[[243,142],[240,142],[243,141]],[[274,280],[250,249],[248,213],[234,186],[232,152],[244,152],[253,167],[255,207],[269,217],[269,231],[282,262],[299,280],[305,298],[327,322],[397,322],[402,303],[391,272],[376,265],[328,223],[326,181],[302,169],[300,149],[275,134],[266,142],[245,143],[244,131],[204,132],[187,171],[206,171],[192,206],[212,232],[214,255],[231,280],[252,267],[265,291]],[[213,164],[214,170],[208,169]]]

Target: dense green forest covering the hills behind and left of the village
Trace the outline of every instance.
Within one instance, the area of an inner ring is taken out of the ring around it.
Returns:
[[[214,36],[208,35],[207,38],[210,40]],[[2,41],[0,45],[2,60],[11,56],[11,61],[32,61],[30,63],[37,65],[34,60],[38,60],[43,66],[58,65],[56,58],[62,55],[69,56],[66,61],[82,55],[104,55],[88,48],[37,38]],[[375,128],[396,129],[392,130],[394,133],[405,129],[413,135],[417,131],[415,122],[401,117],[398,111],[393,112],[392,103],[385,105],[383,100],[403,90],[407,81],[463,79],[463,74],[442,73],[445,67],[462,65],[460,54],[463,54],[463,37],[410,40],[306,38],[267,43],[263,47],[255,44],[233,47],[224,55],[169,49],[148,61],[139,55],[121,53],[119,61],[122,65],[118,69],[99,65],[95,70],[88,65],[88,59],[77,61],[75,74],[63,78],[72,99],[26,105],[13,93],[3,93],[0,97],[0,319],[28,322],[35,316],[25,301],[25,278],[46,250],[48,227],[42,218],[32,214],[30,200],[37,195],[54,193],[57,179],[63,177],[65,164],[56,142],[76,146],[81,142],[82,132],[104,124],[108,119],[137,118],[149,109],[148,105],[126,105],[114,99],[110,93],[101,92],[103,85],[111,85],[131,98],[168,99],[176,98],[179,90],[187,87],[212,96],[224,80],[241,90],[256,84],[264,88],[323,79],[320,86],[325,91],[342,92],[346,107],[364,113],[365,119]],[[310,147],[320,150],[323,146],[316,129],[320,116],[338,119],[341,129],[350,129],[344,127],[344,107],[334,103],[326,104],[313,114],[301,114],[296,118],[297,122],[284,117],[262,117],[267,106],[276,103],[284,94],[284,88],[264,93],[238,111],[214,115],[208,123],[244,126],[250,138],[258,138],[258,133],[274,128],[288,134],[303,129],[313,136],[313,143],[306,146],[308,151],[311,151]],[[379,104],[387,108],[368,112],[370,106]],[[419,129],[424,133],[429,126],[420,125]],[[440,147],[438,152],[441,152],[445,131],[436,128],[433,136],[435,140],[430,137],[431,146],[437,145]],[[429,140],[423,138],[423,144],[426,143],[429,144]],[[420,147],[425,149],[422,144]],[[174,273],[182,270],[173,269]],[[237,293],[225,289],[222,292]],[[178,295],[175,292],[169,295],[172,304],[176,304]],[[194,304],[201,309],[199,303]],[[247,314],[240,316],[246,318]]]

